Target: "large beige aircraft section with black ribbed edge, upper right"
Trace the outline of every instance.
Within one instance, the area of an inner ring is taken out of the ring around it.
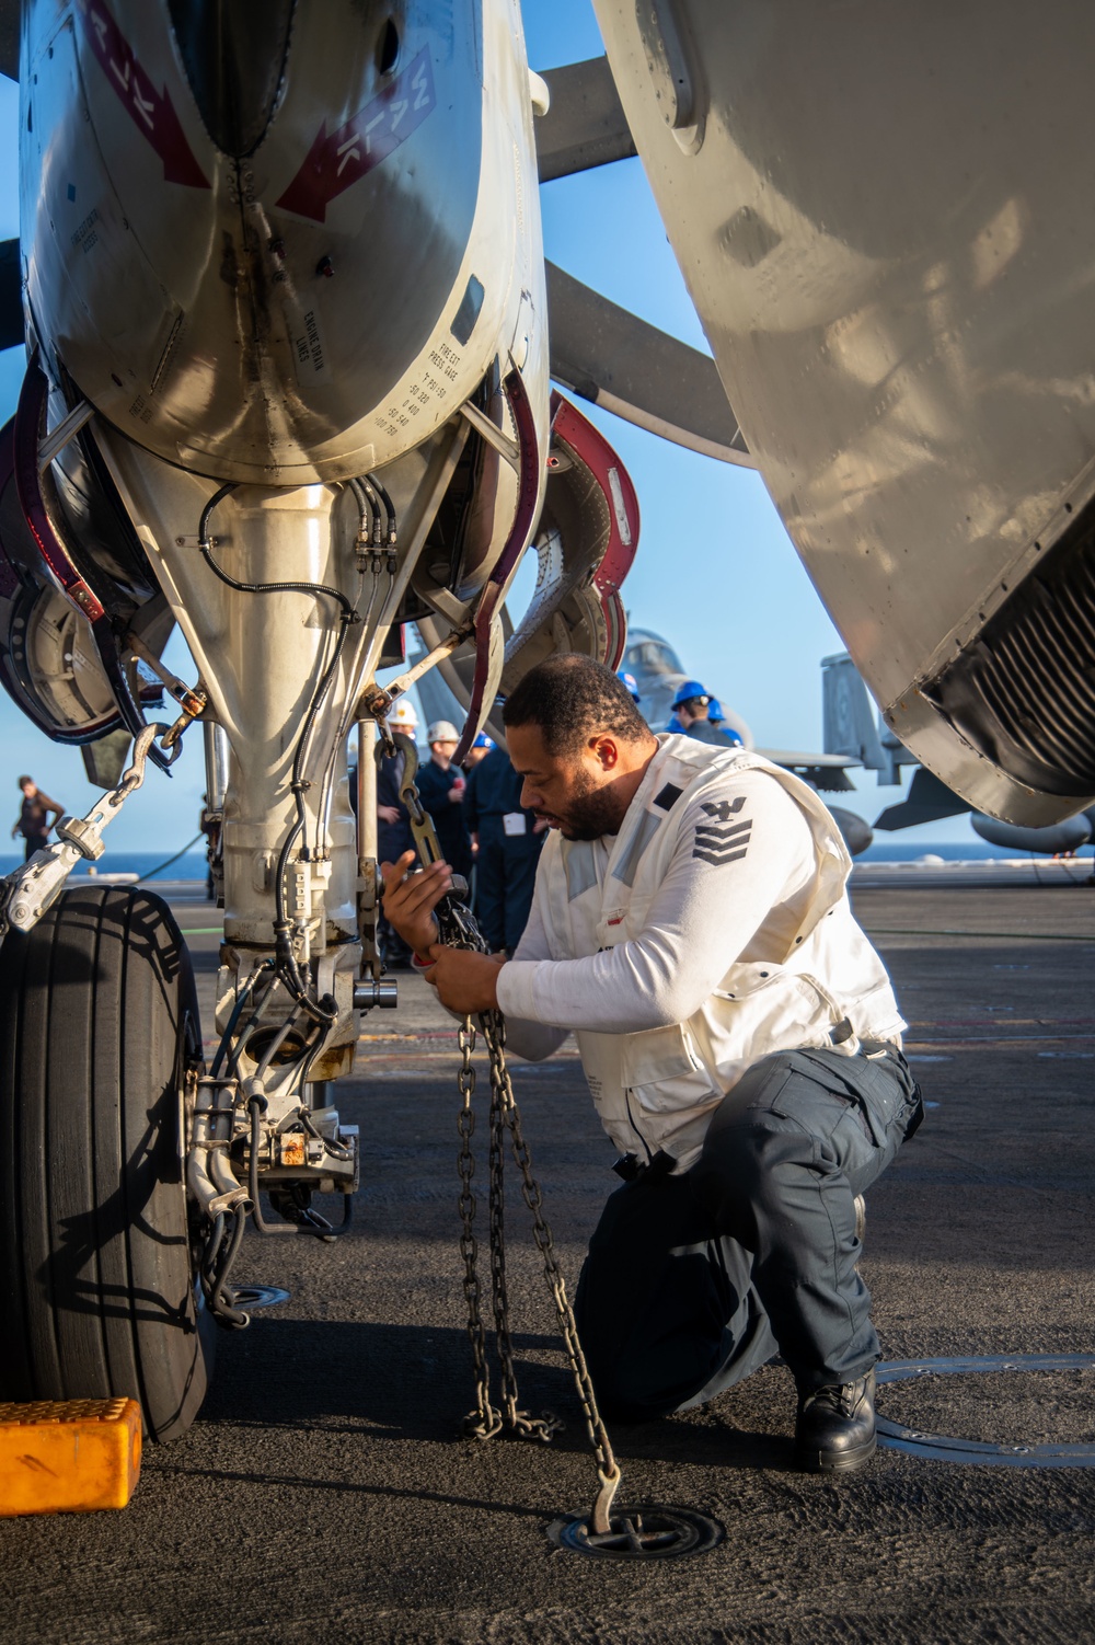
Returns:
[[[1090,804],[1095,12],[594,7],[735,418],[886,725],[1016,822]]]

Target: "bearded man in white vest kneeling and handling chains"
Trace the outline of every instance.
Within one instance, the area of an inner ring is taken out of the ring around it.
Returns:
[[[922,1102],[840,831],[761,755],[656,739],[589,658],[533,668],[503,716],[551,824],[513,961],[437,943],[444,865],[385,864],[385,903],[449,1010],[500,1008],[533,1059],[577,1036],[623,1178],[575,1298],[597,1398],[653,1420],[779,1352],[797,1464],[860,1467],[878,1337],[857,1196]]]

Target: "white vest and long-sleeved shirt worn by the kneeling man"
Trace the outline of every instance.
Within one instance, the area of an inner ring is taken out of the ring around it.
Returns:
[[[617,1147],[661,1148],[684,1171],[760,1058],[853,1054],[862,1038],[899,1043],[904,1023],[814,790],[745,750],[658,740],[617,836],[552,829],[498,1005],[520,1056],[574,1031]]]

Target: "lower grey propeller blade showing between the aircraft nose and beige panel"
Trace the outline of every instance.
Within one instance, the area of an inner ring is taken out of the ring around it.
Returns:
[[[753,469],[715,362],[546,263],[551,375],[628,423]]]

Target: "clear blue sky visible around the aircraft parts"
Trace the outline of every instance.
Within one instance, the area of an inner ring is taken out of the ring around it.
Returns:
[[[602,51],[589,0],[524,0],[524,20],[533,67]],[[3,79],[0,155],[3,239],[18,232],[16,89]],[[707,349],[638,160],[546,184],[541,209],[544,250],[552,262],[651,324]],[[0,421],[15,408],[20,378],[21,350],[0,354]],[[820,658],[843,650],[843,642],[761,479],[671,446],[585,403],[582,410],[617,447],[640,497],[640,551],[625,586],[631,622],[664,633],[689,673],[732,704],[761,745],[819,748]],[[178,635],[168,661],[181,674],[192,674]],[[12,819],[20,772],[31,772],[72,811],[94,799],[79,750],[51,744],[7,697],[0,701],[0,796],[7,793]],[[196,832],[204,788],[197,737],[189,739],[174,773],[168,780],[150,772],[143,793],[112,826],[110,844],[166,854]],[[842,804],[873,821],[898,795],[865,775]],[[959,818],[901,837],[965,839],[972,832]]]

